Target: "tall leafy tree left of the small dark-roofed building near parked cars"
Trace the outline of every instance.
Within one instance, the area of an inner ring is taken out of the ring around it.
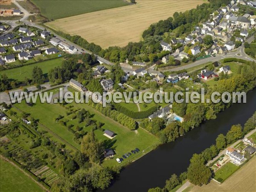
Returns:
[[[95,138],[93,131],[84,136],[81,143],[81,152],[89,158],[90,162],[99,162],[101,151],[101,145]]]

